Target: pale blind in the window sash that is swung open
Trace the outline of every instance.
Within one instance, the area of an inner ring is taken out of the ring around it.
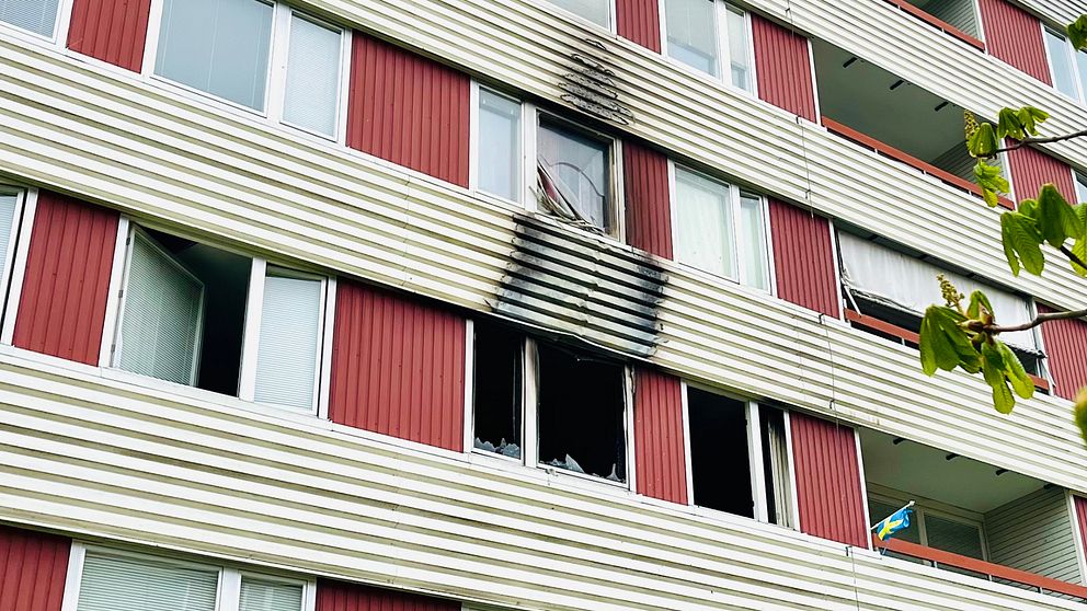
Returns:
[[[192,384],[204,285],[142,233],[133,234],[131,249],[118,366]]]

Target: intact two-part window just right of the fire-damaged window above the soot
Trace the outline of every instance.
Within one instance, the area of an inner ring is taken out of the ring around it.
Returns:
[[[675,216],[680,263],[769,290],[762,197],[677,166]]]

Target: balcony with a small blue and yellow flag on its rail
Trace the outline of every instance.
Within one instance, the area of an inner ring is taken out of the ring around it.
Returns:
[[[886,556],[1087,601],[1067,491],[902,438],[861,430],[869,522],[915,500]]]

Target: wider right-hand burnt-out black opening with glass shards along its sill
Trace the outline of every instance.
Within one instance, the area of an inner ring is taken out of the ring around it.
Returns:
[[[621,365],[538,346],[539,463],[627,481]]]

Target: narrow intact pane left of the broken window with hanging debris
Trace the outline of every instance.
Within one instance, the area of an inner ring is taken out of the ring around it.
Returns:
[[[518,200],[520,104],[479,90],[479,188]]]

